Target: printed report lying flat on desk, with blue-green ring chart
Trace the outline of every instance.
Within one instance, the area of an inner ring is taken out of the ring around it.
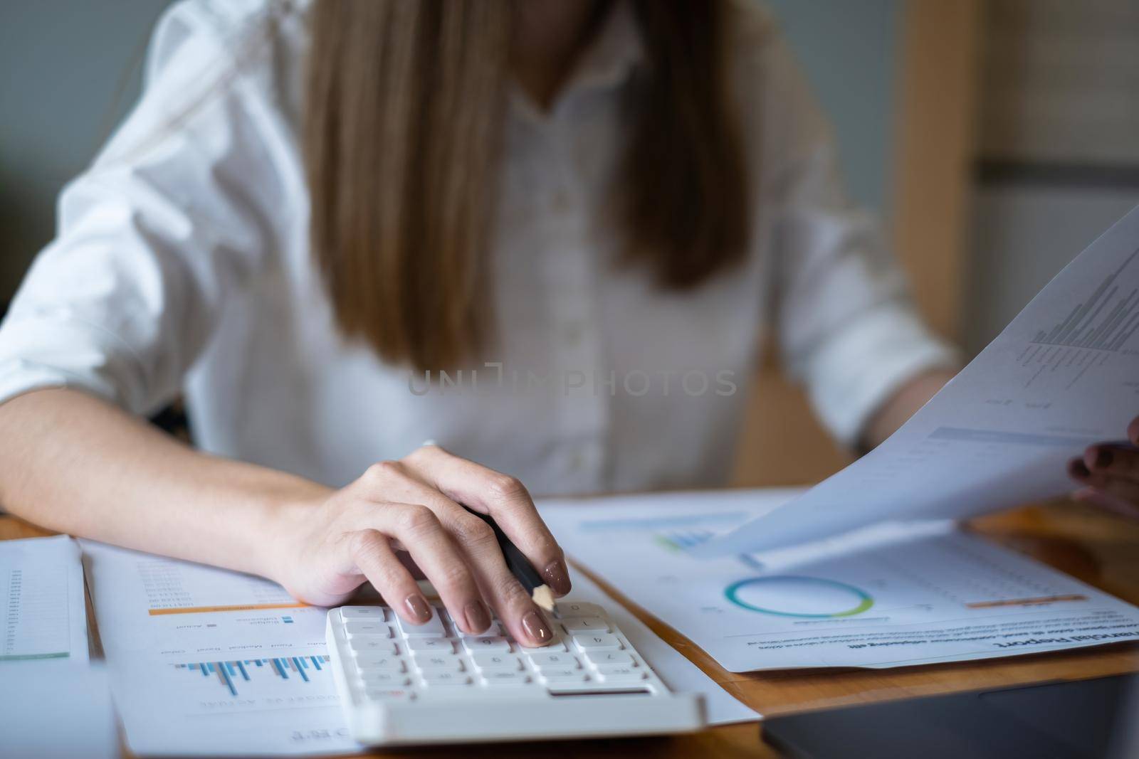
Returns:
[[[691,555],[790,495],[679,493],[539,509],[572,559],[730,671],[901,667],[1139,640],[1139,609],[949,522],[899,526],[869,547],[836,538],[827,552],[784,562]]]

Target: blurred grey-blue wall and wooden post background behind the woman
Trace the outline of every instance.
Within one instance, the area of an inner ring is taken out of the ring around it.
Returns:
[[[759,1],[759,0],[744,0]],[[138,97],[166,0],[0,3],[0,308]],[[1134,0],[767,0],[933,327],[972,355],[1139,204]],[[842,467],[769,360],[737,485]]]

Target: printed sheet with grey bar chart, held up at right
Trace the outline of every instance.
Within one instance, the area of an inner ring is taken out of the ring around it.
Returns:
[[[1139,414],[1139,208],[1064,269],[885,443],[699,555],[877,521],[964,519],[1074,488],[1068,459]]]

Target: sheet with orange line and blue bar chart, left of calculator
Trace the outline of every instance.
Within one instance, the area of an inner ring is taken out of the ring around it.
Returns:
[[[326,610],[274,583],[83,541],[110,688],[139,756],[342,753]]]

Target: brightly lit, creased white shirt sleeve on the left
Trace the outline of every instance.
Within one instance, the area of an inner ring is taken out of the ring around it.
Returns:
[[[180,3],[158,23],[142,98],[64,189],[0,325],[0,402],[74,387],[153,412],[263,265],[281,182],[253,117],[246,20],[226,39],[208,6]]]

